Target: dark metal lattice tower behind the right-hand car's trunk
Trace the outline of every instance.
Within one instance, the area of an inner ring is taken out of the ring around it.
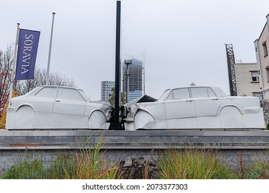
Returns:
[[[235,81],[235,54],[231,43],[225,45],[226,45],[228,76],[230,84],[230,96],[237,96],[237,83]]]

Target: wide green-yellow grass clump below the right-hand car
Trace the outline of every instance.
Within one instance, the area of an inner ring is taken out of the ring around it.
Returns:
[[[215,150],[166,150],[159,159],[161,179],[237,179]]]

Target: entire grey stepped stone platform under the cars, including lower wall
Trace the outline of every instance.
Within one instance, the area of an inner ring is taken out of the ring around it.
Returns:
[[[50,163],[57,155],[82,148],[92,148],[102,143],[101,153],[107,160],[119,161],[128,156],[155,156],[163,150],[207,148],[218,150],[223,161],[240,167],[243,160],[257,158],[269,160],[269,131],[217,131],[217,130],[141,130],[141,131],[92,131],[0,130],[0,173],[15,162],[32,154],[31,159],[41,158]]]

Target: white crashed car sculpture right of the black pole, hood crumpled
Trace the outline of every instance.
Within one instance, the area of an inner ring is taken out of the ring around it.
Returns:
[[[227,96],[217,87],[169,89],[159,100],[143,96],[125,108],[125,130],[265,128],[258,97]]]

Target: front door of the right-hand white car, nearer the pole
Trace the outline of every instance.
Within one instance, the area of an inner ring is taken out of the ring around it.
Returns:
[[[165,103],[166,119],[183,119],[195,117],[195,103],[190,98],[188,88],[178,88],[171,91]]]

